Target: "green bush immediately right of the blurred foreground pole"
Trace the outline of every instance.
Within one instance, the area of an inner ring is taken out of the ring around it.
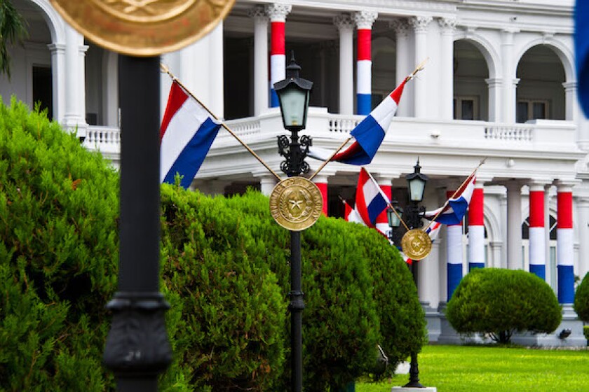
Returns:
[[[244,230],[252,218],[168,185],[161,200],[163,281],[182,309],[171,336],[189,385],[270,390],[285,360],[285,307],[264,247]]]

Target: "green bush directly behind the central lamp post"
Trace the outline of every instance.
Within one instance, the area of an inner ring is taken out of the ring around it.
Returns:
[[[255,233],[269,255],[266,261],[278,275],[286,309],[290,290],[290,233],[273,222],[269,201],[259,193],[249,192],[225,202],[235,214],[247,211],[253,217],[243,221],[241,228]],[[338,391],[366,374],[376,357],[381,335],[372,298],[372,277],[367,260],[358,252],[363,244],[354,237],[354,226],[322,217],[301,233],[306,391],[329,388]],[[285,321],[285,330],[290,331],[290,317]],[[290,363],[290,350],[287,363]],[[289,380],[290,366],[287,366],[279,390],[287,390]]]

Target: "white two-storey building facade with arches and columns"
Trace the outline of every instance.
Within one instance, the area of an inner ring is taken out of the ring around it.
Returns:
[[[48,0],[14,3],[29,38],[11,49],[2,99],[41,102],[118,165],[117,55],[69,27]],[[487,158],[470,215],[442,230],[419,262],[419,297],[438,320],[430,325],[430,338],[438,339],[454,288],[448,282],[470,267],[543,276],[574,318],[574,279],[589,270],[589,121],[576,97],[573,7],[573,0],[237,0],[208,36],[162,62],[280,172],[276,137],[287,132],[270,82],[284,77],[291,50],[301,76],[314,82],[302,134],[324,148],[337,148],[429,58],[405,86],[367,169],[403,206],[404,177],[419,157],[430,178],[424,205],[433,209]],[[163,74],[162,112],[170,83]],[[321,163],[307,162],[310,174]],[[314,179],[329,216],[343,214],[339,197],[353,200],[358,172],[331,162]],[[269,194],[275,183],[221,130],[193,186],[226,195],[254,186]]]

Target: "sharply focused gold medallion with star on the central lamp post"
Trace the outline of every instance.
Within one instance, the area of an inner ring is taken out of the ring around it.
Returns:
[[[323,211],[319,188],[303,177],[276,184],[270,195],[270,213],[278,225],[293,232],[310,228]]]

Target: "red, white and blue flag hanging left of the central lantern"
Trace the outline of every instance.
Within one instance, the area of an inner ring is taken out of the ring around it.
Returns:
[[[173,81],[160,128],[160,181],[188,188],[203,164],[221,123]]]

